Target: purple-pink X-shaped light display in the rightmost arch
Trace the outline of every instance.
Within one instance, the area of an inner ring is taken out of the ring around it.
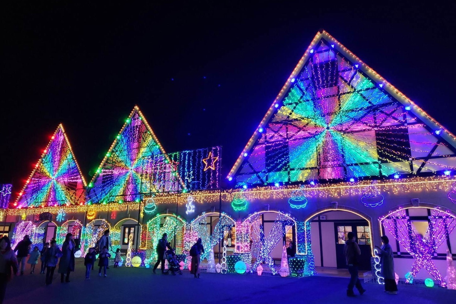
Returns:
[[[406,280],[407,283],[411,283],[421,268],[424,267],[441,287],[446,287],[446,282],[432,262],[432,258],[437,249],[446,243],[447,236],[456,228],[454,215],[437,208],[433,209],[428,220],[428,230],[423,237],[420,237],[414,225],[411,225],[405,209],[399,208],[391,212],[381,218],[380,222],[394,236],[400,246],[415,259],[409,278]]]

